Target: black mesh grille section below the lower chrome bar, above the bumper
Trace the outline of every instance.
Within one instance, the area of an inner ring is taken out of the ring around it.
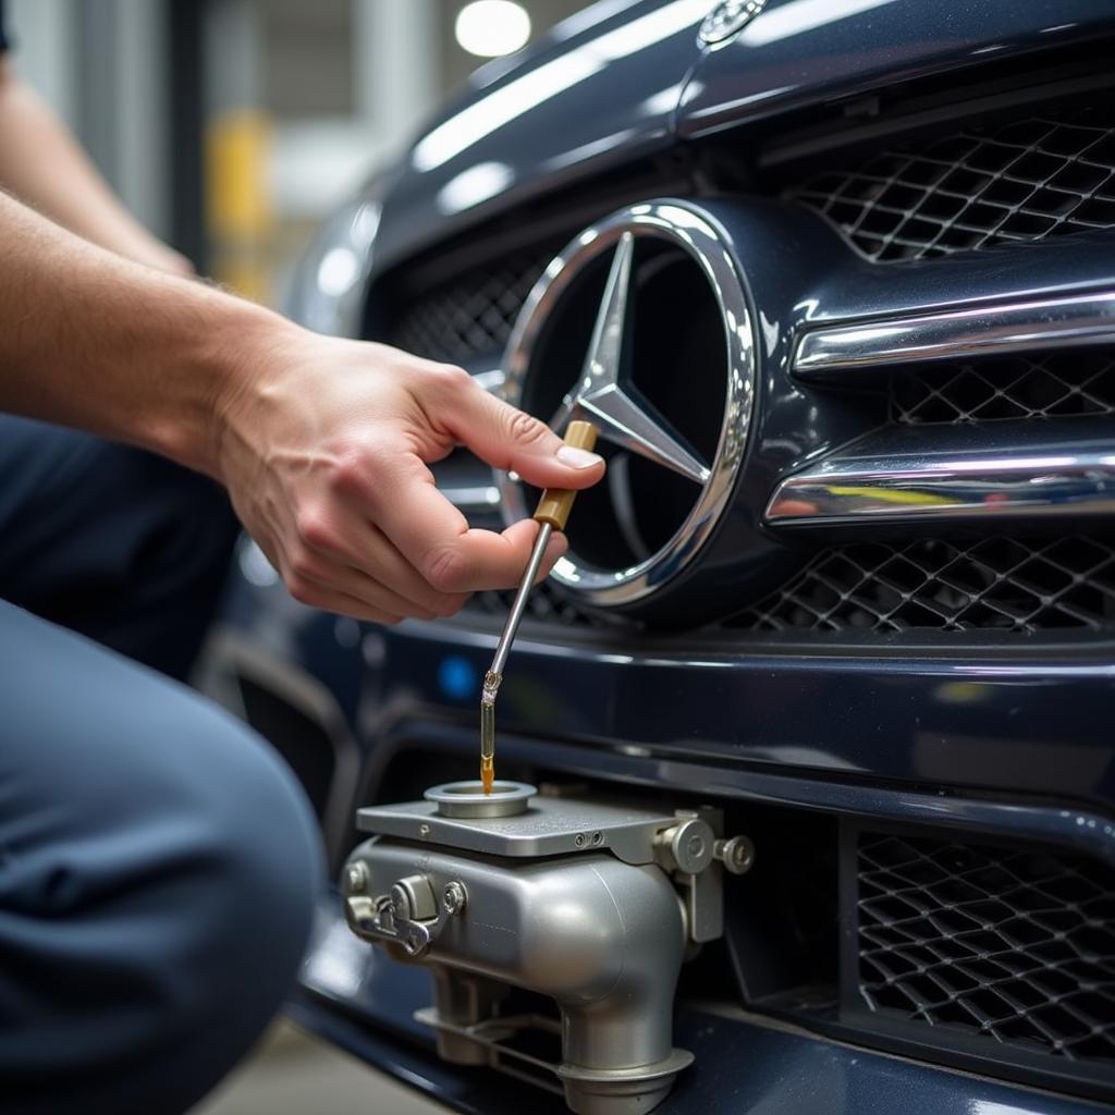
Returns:
[[[1111,631],[1113,542],[921,539],[835,546],[730,626],[756,631]]]

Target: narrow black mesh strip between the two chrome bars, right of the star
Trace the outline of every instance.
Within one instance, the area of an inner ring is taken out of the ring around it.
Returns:
[[[909,426],[1115,414],[1107,352],[904,369],[890,382],[891,420]]]

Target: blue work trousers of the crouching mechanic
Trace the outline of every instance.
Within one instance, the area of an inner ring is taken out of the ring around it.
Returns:
[[[0,415],[0,1115],[184,1112],[294,978],[311,811],[171,680],[234,536],[206,478]]]

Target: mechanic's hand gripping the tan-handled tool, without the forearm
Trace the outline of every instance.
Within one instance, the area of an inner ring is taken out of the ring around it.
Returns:
[[[382,623],[517,584],[539,530],[471,530],[428,463],[462,444],[537,487],[583,488],[604,472],[459,368],[301,329],[254,353],[219,409],[221,478],[291,594]],[[543,576],[565,546],[555,534]]]

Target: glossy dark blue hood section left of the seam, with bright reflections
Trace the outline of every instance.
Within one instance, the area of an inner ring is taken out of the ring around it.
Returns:
[[[406,156],[385,203],[377,266],[523,201],[541,181],[551,190],[667,146],[707,8],[621,8],[458,100]]]

